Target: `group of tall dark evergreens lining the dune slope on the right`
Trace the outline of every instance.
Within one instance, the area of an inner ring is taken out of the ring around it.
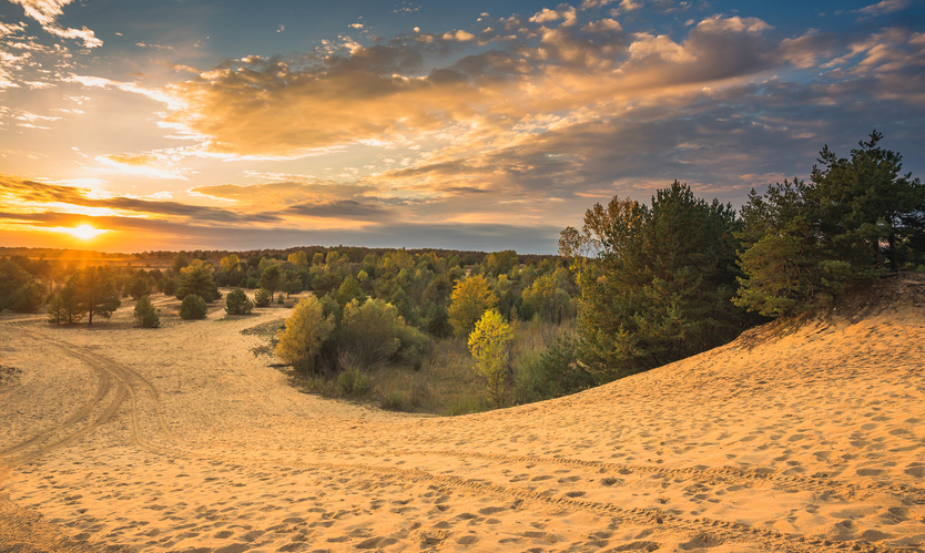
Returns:
[[[925,270],[925,187],[874,132],[809,182],[752,191],[736,214],[675,182],[651,205],[594,205],[560,253],[580,289],[578,339],[548,354],[553,376],[602,383],[731,341],[769,317],[827,305],[898,270]]]

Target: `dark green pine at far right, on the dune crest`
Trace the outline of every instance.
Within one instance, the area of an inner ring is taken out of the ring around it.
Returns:
[[[902,156],[871,140],[838,158],[820,152],[811,182],[752,191],[742,207],[743,229],[735,305],[769,317],[814,309],[842,290],[925,252],[916,237],[925,229],[925,187],[899,176]]]

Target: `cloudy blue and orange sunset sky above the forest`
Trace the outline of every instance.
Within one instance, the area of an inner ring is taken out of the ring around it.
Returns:
[[[923,0],[0,0],[0,246],[549,254],[874,130],[923,174]]]

